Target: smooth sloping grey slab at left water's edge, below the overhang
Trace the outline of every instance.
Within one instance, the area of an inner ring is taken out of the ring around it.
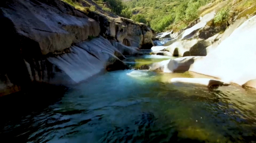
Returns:
[[[106,71],[126,69],[127,66],[120,61],[124,58],[123,54],[113,47],[110,41],[99,36],[73,44],[66,53],[52,53],[40,60],[23,59],[27,71],[23,74],[28,75],[24,79],[30,81],[30,83],[69,86],[70,84],[89,80]],[[9,77],[13,78],[13,75],[9,72],[4,75],[0,74],[0,77],[0,96],[19,92],[23,87],[23,85],[17,84],[15,79],[9,79]],[[19,78],[16,80],[19,80]]]

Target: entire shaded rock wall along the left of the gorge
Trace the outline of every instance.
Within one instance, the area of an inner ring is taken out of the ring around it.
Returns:
[[[60,0],[0,4],[0,96],[35,83],[76,84],[126,69],[123,54],[152,46],[148,26],[122,17],[84,13]]]

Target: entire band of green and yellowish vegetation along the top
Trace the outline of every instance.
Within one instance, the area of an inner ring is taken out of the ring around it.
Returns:
[[[255,0],[62,0],[75,8],[83,11],[98,11],[109,16],[115,13],[118,16],[132,19],[135,22],[145,23],[156,32],[170,29],[178,31],[186,28],[199,16],[217,11],[214,23],[228,23],[231,9],[237,13],[251,13],[251,10],[243,11],[252,5]],[[89,6],[85,7],[86,2]],[[92,4],[93,2],[93,4]],[[96,6],[96,7],[95,7]],[[231,8],[232,7],[232,8]],[[236,7],[236,8],[234,8]],[[256,7],[256,6],[255,6]],[[102,12],[103,11],[103,12]],[[236,15],[236,14],[235,14]]]

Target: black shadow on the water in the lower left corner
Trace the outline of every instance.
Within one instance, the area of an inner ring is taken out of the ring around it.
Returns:
[[[1,142],[27,142],[30,133],[40,129],[38,126],[31,126],[35,123],[34,115],[42,114],[49,105],[61,101],[65,92],[67,88],[63,86],[36,84],[31,87],[30,92],[17,92],[1,97]]]

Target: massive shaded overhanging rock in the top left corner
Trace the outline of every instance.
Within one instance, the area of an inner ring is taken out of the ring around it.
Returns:
[[[69,48],[72,43],[98,36],[99,24],[65,2],[10,0],[1,5],[1,28],[10,30],[12,23],[22,52],[34,56]],[[24,54],[25,54],[24,53]]]

